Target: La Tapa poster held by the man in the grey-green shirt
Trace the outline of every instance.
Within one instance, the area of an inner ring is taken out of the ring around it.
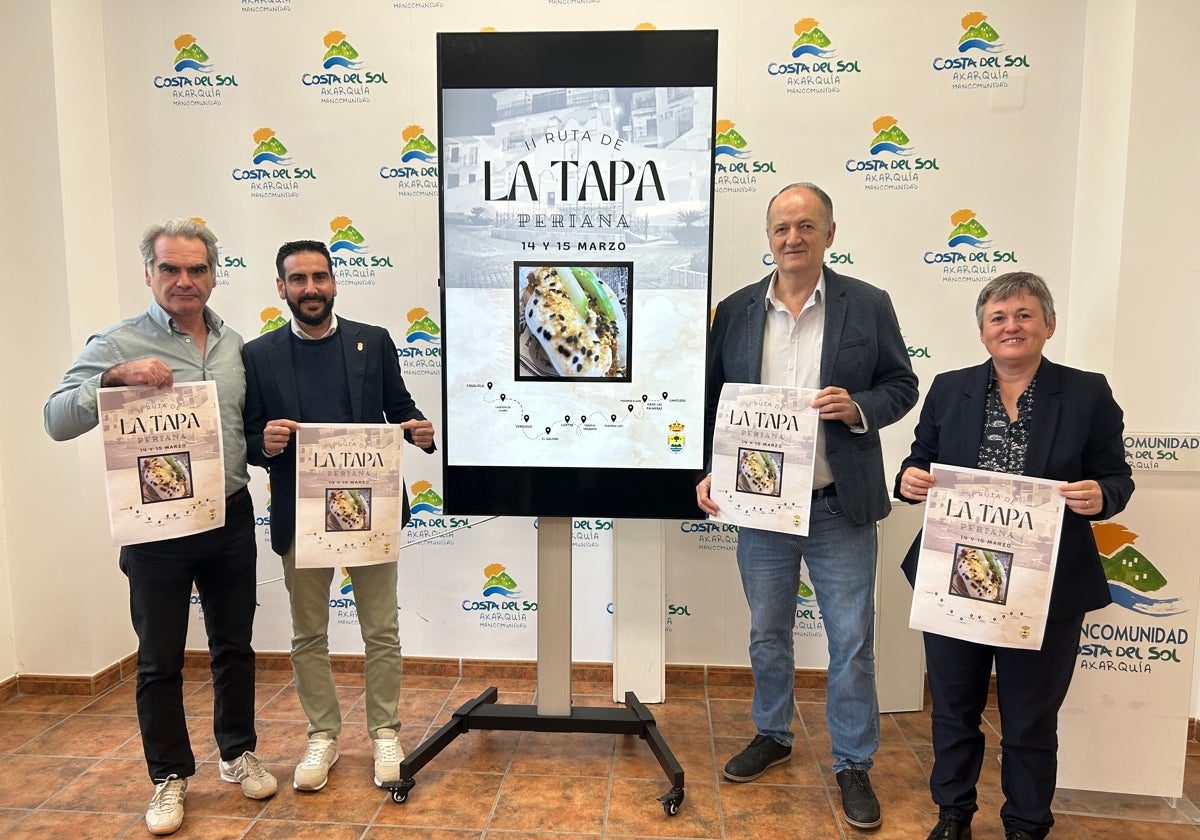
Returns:
[[[104,487],[113,544],[224,524],[224,457],[215,382],[102,388]]]

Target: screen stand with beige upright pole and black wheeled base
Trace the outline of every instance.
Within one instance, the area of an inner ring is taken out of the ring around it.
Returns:
[[[403,803],[416,784],[413,778],[455,738],[472,730],[520,732],[590,732],[636,734],[649,744],[671,790],[659,797],[667,816],[683,803],[683,767],[667,746],[650,714],[632,691],[625,708],[571,708],[571,520],[538,518],[538,704],[497,703],[496,686],[463,703],[442,728],[402,762],[400,781],[385,787]]]

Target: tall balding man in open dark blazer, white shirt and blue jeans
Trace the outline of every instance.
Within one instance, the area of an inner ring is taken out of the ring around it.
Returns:
[[[708,343],[704,445],[712,451],[721,386],[820,389],[808,536],[742,528],[738,569],[750,605],[751,714],[757,734],[725,766],[757,779],[792,751],[792,631],[800,560],[809,569],[829,643],[826,714],[842,814],[856,828],[882,821],[868,778],[880,742],[875,691],[875,523],[890,512],[880,428],[917,402],[917,377],[887,293],[824,266],[833,202],[812,184],[784,187],[767,205],[775,271],[721,301]],[[716,514],[712,478],[696,486]]]

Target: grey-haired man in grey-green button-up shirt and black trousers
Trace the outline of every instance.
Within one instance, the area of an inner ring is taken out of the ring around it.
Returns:
[[[137,708],[142,749],[154,797],[151,834],[170,834],[184,821],[187,779],[196,773],[184,716],[184,644],[192,584],[200,595],[212,655],[212,733],[221,778],[265,799],[276,780],[253,750],[254,586],[258,548],[246,484],[241,412],[246,374],[241,336],[208,307],[216,284],[216,236],[192,220],[170,220],[142,238],[146,286],[154,300],[139,316],[104,328],[88,343],[46,403],[46,431],[68,440],[100,422],[100,388],[169,388],[212,379],[221,410],[226,523],[215,530],[121,548],[130,581],[130,613],[138,636]]]

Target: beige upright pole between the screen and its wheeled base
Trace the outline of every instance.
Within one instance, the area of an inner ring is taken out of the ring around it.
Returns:
[[[571,520],[538,517],[538,714],[571,714]]]

